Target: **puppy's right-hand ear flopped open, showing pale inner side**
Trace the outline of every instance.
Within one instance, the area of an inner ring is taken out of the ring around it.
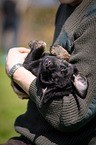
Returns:
[[[74,74],[73,78],[74,78],[73,85],[75,87],[76,93],[80,97],[85,98],[87,94],[87,89],[88,89],[87,78],[80,72],[76,75]]]

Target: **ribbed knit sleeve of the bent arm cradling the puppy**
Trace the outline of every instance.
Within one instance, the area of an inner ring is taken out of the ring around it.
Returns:
[[[96,113],[93,111],[94,103],[96,104],[96,99],[94,101],[96,95],[96,18],[81,23],[80,28],[78,27],[74,32],[73,44],[74,51],[70,63],[74,63],[89,82],[85,99],[70,94],[69,96],[52,98],[42,108],[39,108],[42,88],[34,80],[29,90],[30,97],[36,103],[42,116],[54,128],[63,132],[78,130]]]

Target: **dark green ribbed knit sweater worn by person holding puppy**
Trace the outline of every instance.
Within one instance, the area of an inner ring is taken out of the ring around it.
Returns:
[[[63,46],[70,63],[88,78],[87,95],[52,98],[39,108],[42,88],[34,80],[27,111],[16,119],[15,129],[36,145],[88,145],[96,134],[96,0],[83,0],[64,25],[59,14],[64,15],[62,8],[53,44]]]

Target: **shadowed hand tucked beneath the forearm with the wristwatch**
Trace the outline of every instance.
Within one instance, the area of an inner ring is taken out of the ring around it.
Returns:
[[[18,96],[20,99],[29,99],[28,94],[19,91],[19,90],[14,86],[14,83],[13,83],[12,80],[11,80],[11,86],[12,86],[12,88],[13,88],[13,91],[17,94],[17,96]]]

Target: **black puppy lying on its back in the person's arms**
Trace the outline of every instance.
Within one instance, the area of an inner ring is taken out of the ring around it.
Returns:
[[[75,65],[57,57],[58,55],[45,53],[46,43],[43,41],[30,41],[29,46],[31,51],[23,66],[37,76],[43,88],[40,107],[52,97],[70,93],[82,98],[86,96],[87,79],[78,72]]]

